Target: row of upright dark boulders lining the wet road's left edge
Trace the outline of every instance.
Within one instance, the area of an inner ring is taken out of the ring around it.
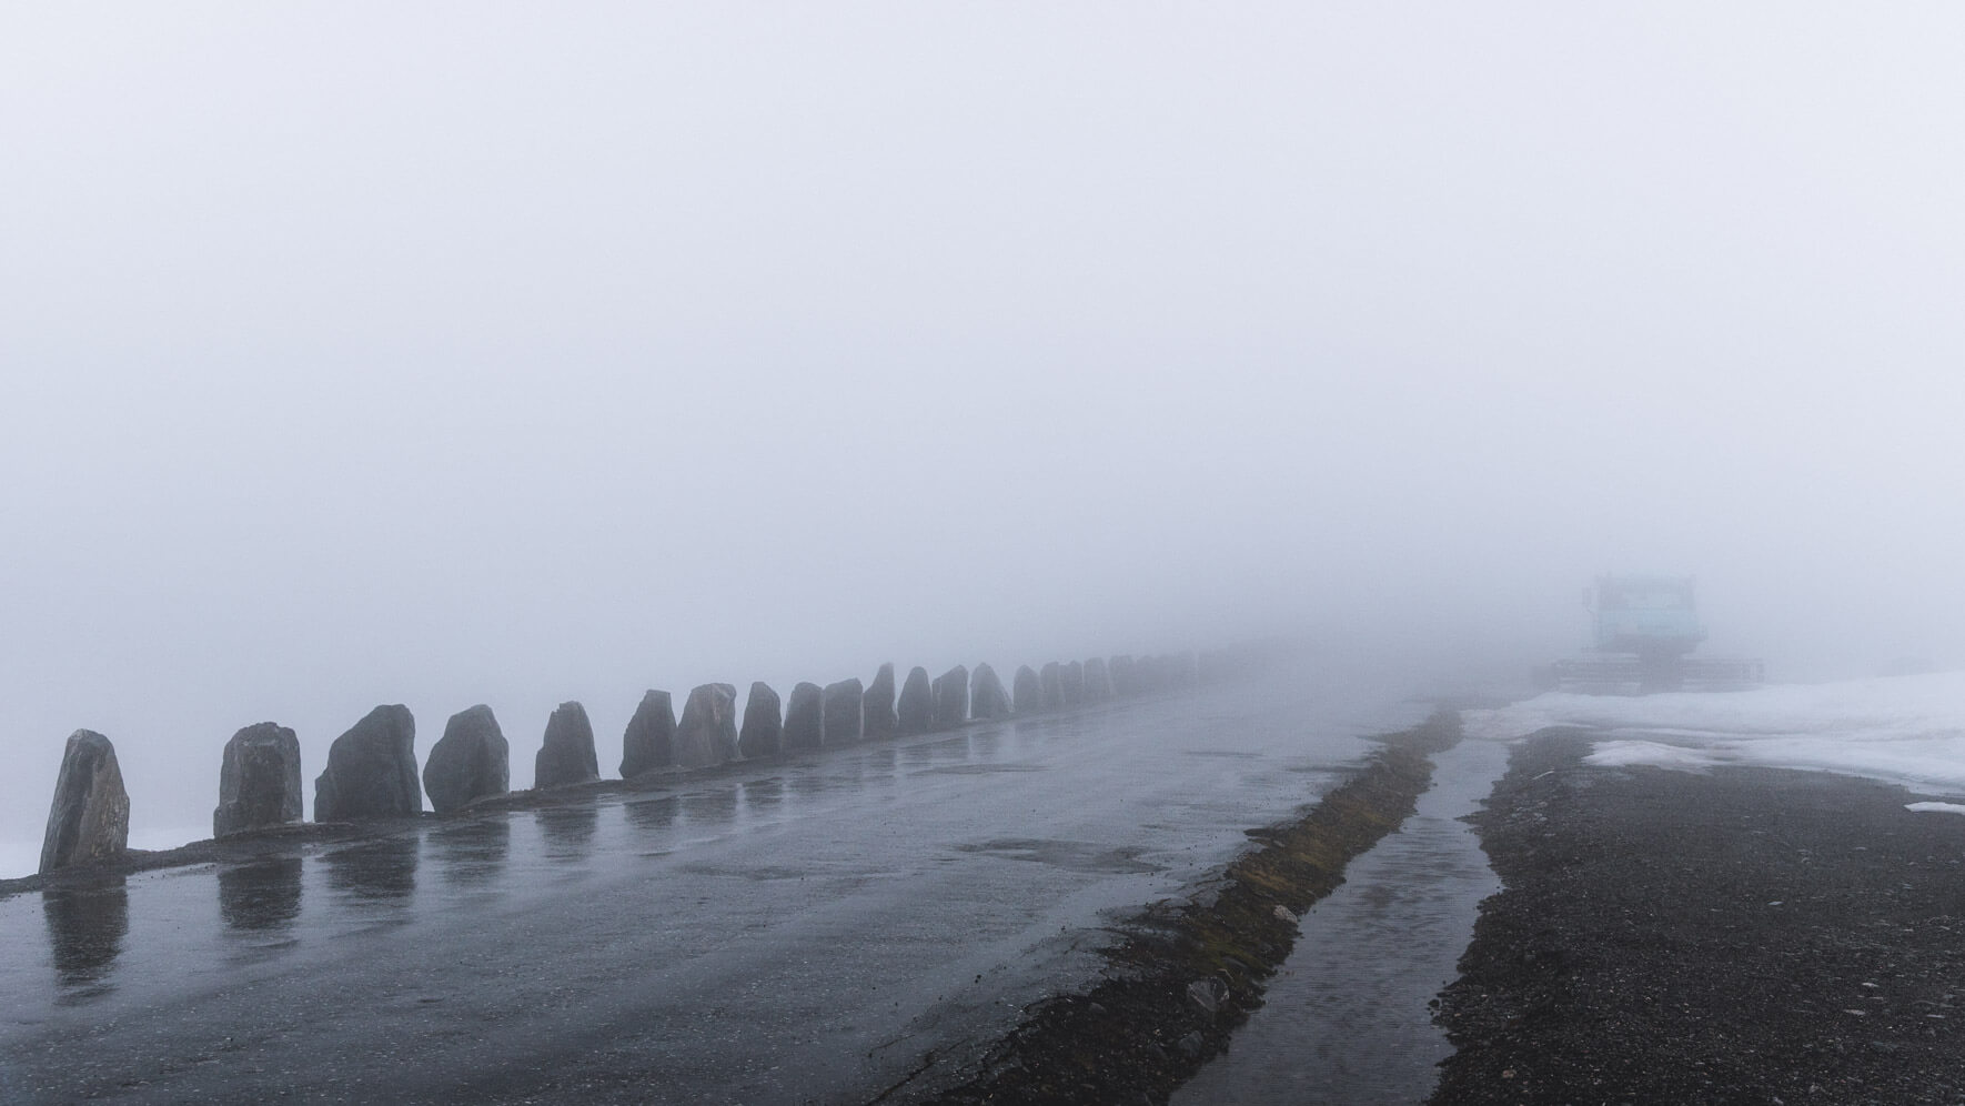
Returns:
[[[648,691],[621,735],[621,778],[711,768],[849,745],[863,739],[912,737],[977,719],[1030,717],[1124,695],[1193,684],[1226,654],[1114,656],[1110,662],[1018,668],[1012,690],[996,670],[957,664],[929,680],[908,672],[894,691],[894,666],[882,664],[872,684],[841,680],[819,688],[798,684],[780,713],[770,686],[751,684],[743,729],[737,727],[737,688],[703,684],[690,691],[682,721],[668,691]],[[417,721],[409,707],[375,707],[328,748],[328,766],[314,780],[314,821],[365,821],[448,813],[511,790],[511,745],[491,707],[476,705],[444,725],[444,737],[417,770]],[[593,727],[580,703],[560,703],[546,719],[546,737],[533,762],[533,786],[564,788],[601,778]],[[218,768],[218,807],[212,837],[301,821],[301,741],[275,723],[250,725],[226,743]],[[110,739],[75,731],[61,756],[55,802],[41,839],[41,872],[114,860],[128,851],[130,796]]]

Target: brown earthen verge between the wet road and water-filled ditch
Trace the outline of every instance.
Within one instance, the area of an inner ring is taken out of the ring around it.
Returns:
[[[1134,915],[1091,992],[1034,1006],[973,1071],[947,1077],[953,1086],[926,1086],[937,1082],[929,1061],[874,1102],[1165,1102],[1262,1006],[1297,917],[1413,813],[1432,782],[1431,754],[1460,741],[1460,715],[1442,709],[1379,741],[1309,813],[1248,831],[1256,847],[1203,892]]]

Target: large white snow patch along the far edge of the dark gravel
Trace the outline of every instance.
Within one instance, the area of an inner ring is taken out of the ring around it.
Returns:
[[[1763,764],[1965,796],[1965,672],[1753,691],[1550,691],[1493,711],[1466,711],[1464,721],[1470,737],[1489,741],[1515,741],[1552,725],[1601,731],[1603,741],[1590,754],[1594,764],[1680,770]]]

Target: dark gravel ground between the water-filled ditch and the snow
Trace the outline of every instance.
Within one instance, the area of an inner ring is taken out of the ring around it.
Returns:
[[[1434,1104],[1965,1102],[1965,817],[1765,768],[1521,743]]]

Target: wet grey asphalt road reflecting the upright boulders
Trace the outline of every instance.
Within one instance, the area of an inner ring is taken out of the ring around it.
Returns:
[[[1423,715],[1222,686],[16,896],[0,1102],[867,1102]]]

